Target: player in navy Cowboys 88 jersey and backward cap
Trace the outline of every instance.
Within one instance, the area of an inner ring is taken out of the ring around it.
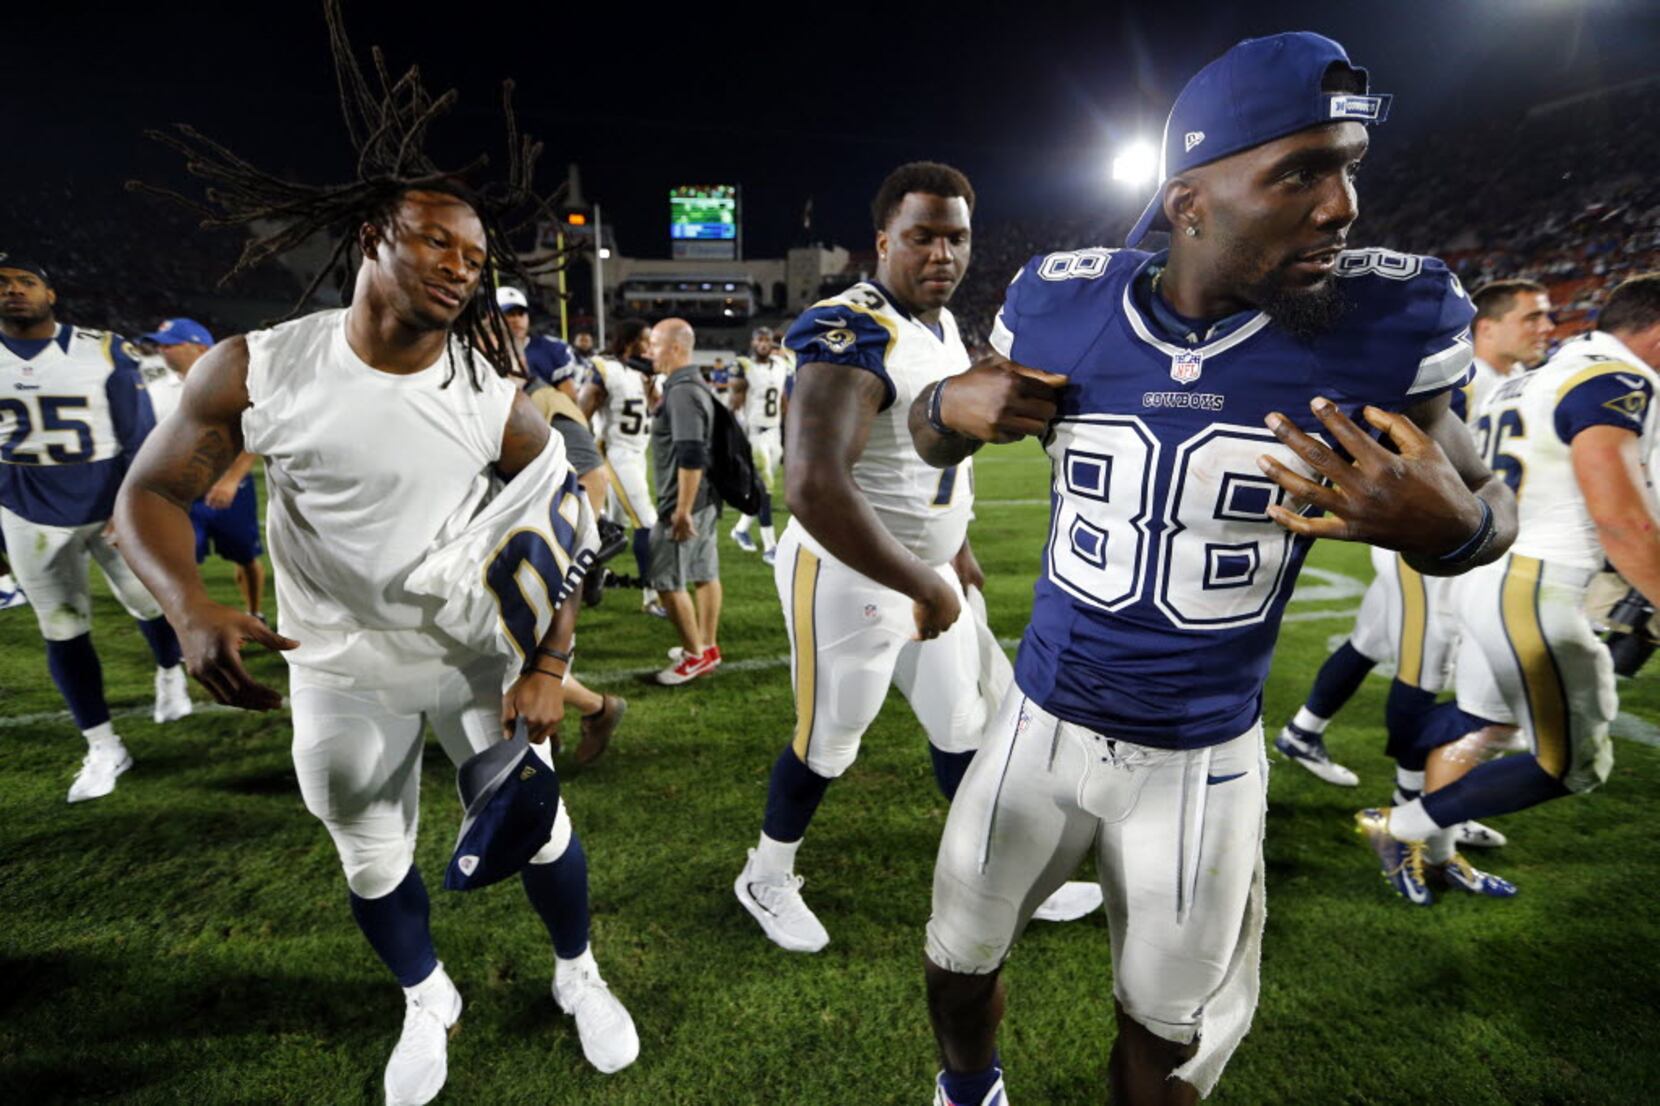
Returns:
[[[940,1104],[1004,1103],[998,971],[1089,849],[1112,932],[1112,1099],[1208,1093],[1257,1003],[1262,689],[1310,541],[1456,575],[1516,535],[1512,495],[1449,412],[1471,364],[1464,291],[1431,257],[1345,251],[1365,125],[1388,106],[1328,38],[1238,43],[1165,125],[1165,179],[1129,244],[1169,229],[1170,249],[1034,257],[999,355],[911,405],[930,463],[1041,433],[1054,467],[1016,688],[935,870]]]

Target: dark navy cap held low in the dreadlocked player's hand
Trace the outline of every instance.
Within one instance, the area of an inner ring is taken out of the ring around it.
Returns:
[[[455,782],[466,815],[443,874],[445,890],[478,890],[505,880],[548,844],[559,814],[559,777],[530,747],[525,719],[513,741],[466,757]]]

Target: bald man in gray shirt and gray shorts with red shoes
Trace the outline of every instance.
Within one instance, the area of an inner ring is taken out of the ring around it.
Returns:
[[[657,521],[651,528],[651,580],[662,596],[681,644],[669,649],[659,684],[684,684],[720,664],[720,556],[715,516],[720,502],[704,472],[715,427],[715,395],[692,364],[694,334],[684,319],[651,330],[651,360],[667,380],[651,423],[651,463],[657,482]],[[694,598],[686,595],[692,585]]]

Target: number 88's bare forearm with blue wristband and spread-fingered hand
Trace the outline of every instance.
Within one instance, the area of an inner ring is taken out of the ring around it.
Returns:
[[[1516,497],[1482,463],[1446,394],[1406,414],[1363,410],[1393,450],[1325,397],[1315,397],[1310,410],[1353,462],[1298,430],[1285,415],[1268,415],[1275,437],[1325,478],[1315,483],[1267,453],[1258,458],[1275,483],[1326,511],[1321,518],[1308,518],[1288,507],[1270,507],[1268,513],[1282,526],[1311,538],[1398,550],[1408,565],[1428,576],[1462,573],[1511,548]]]

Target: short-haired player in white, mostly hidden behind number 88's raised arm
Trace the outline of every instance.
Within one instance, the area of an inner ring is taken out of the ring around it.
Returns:
[[[1452,409],[1474,420],[1492,387],[1544,360],[1550,342],[1550,296],[1534,281],[1494,281],[1471,294],[1476,321],[1474,365],[1469,384],[1452,397]],[[1353,787],[1355,772],[1335,762],[1325,746],[1331,717],[1360,689],[1366,674],[1383,661],[1394,661],[1384,717],[1389,754],[1396,759],[1394,802],[1416,799],[1424,789],[1424,752],[1418,731],[1446,689],[1457,649],[1454,580],[1438,580],[1413,570],[1399,553],[1373,550],[1373,581],[1361,599],[1355,631],[1315,676],[1308,701],[1285,724],[1275,747],[1320,779]],[[1484,746],[1496,754],[1502,744]],[[1494,847],[1506,844],[1501,832],[1479,822],[1459,825],[1459,844]]]

